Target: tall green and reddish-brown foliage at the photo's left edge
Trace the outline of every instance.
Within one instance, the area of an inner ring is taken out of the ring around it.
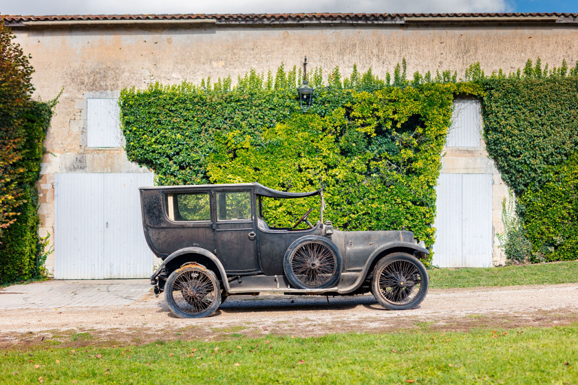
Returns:
[[[39,278],[46,239],[39,239],[38,191],[51,104],[33,102],[34,71],[0,20],[0,283]]]

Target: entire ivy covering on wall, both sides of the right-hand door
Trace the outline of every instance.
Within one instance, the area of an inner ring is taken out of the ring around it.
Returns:
[[[533,243],[525,259],[575,259],[561,251],[572,249],[578,228],[575,190],[561,180],[572,175],[569,159],[578,144],[578,63],[548,69],[528,61],[508,76],[486,76],[475,64],[464,80],[451,72],[416,73],[409,80],[405,63],[384,80],[371,69],[354,69],[342,80],[336,68],[325,85],[321,73],[317,68],[310,75],[317,91],[307,113],[299,110],[301,73],[295,67],[286,72],[281,66],[275,76],[251,71],[235,87],[226,78],[125,89],[120,104],[127,155],[154,170],[160,184],[323,187],[326,217],[339,228],[405,226],[431,248],[434,186],[453,98],[475,96],[482,98],[489,155],[520,198],[523,228],[515,234]],[[561,186],[564,210],[545,193]],[[312,204],[270,200],[266,219],[290,225]],[[538,220],[540,210],[550,225]],[[564,225],[553,225],[561,217]]]

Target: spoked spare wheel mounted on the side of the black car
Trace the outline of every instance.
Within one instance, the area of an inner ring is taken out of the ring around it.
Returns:
[[[341,273],[341,255],[321,236],[303,236],[293,242],[283,260],[289,283],[298,289],[333,287]]]

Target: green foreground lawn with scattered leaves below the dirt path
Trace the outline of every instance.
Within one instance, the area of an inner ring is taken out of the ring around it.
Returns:
[[[36,347],[0,357],[2,384],[577,384],[578,325]]]

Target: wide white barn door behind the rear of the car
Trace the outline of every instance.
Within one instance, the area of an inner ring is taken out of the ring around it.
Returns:
[[[152,185],[148,173],[56,173],[54,278],[150,276],[138,188]]]

